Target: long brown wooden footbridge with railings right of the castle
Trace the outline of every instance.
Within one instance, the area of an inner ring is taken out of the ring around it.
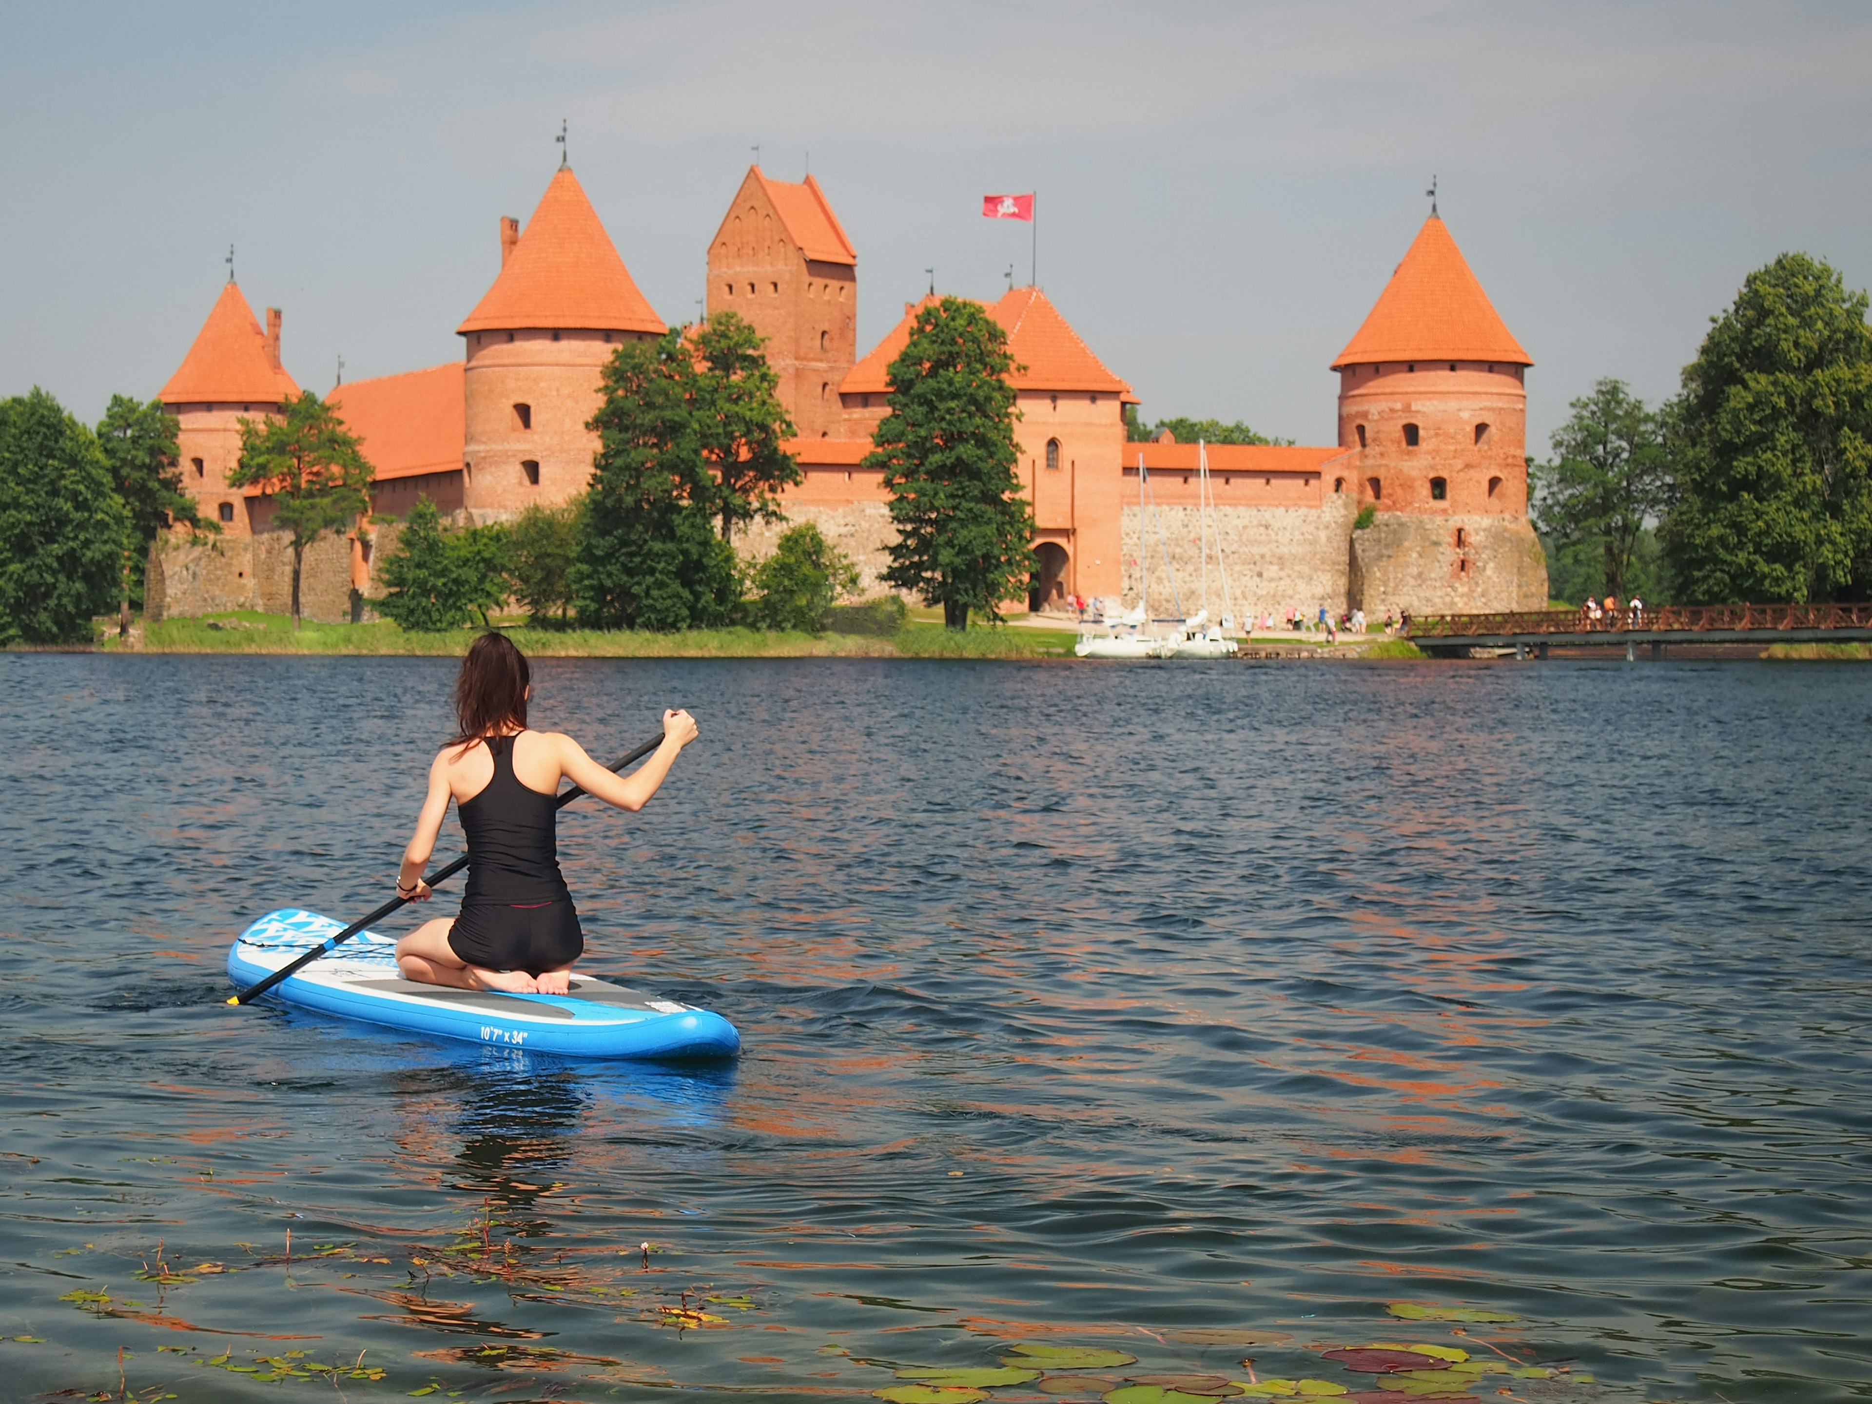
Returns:
[[[1529,650],[1546,657],[1550,648],[1623,648],[1634,659],[1645,644],[1659,659],[1668,644],[1872,642],[1872,605],[1668,605],[1599,618],[1580,610],[1432,614],[1413,618],[1408,638],[1441,657],[1471,648],[1513,648],[1516,657]]]

